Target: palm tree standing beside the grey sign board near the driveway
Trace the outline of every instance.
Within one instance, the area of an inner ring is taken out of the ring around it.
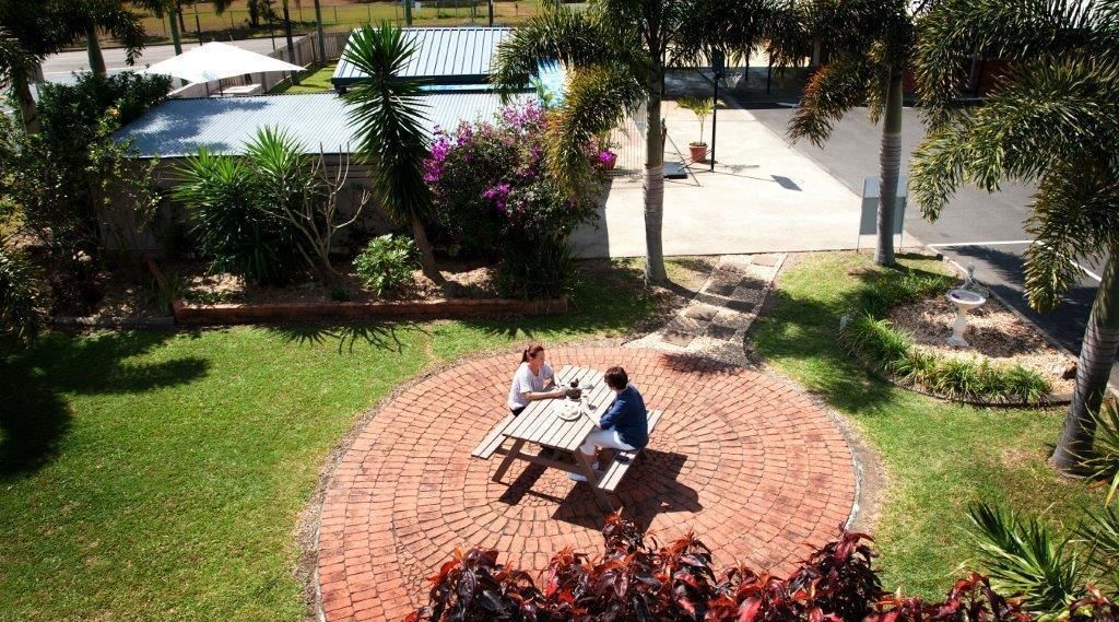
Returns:
[[[853,107],[869,104],[882,121],[878,157],[881,197],[874,261],[894,265],[894,208],[902,157],[902,85],[915,40],[909,0],[808,0],[798,7],[801,30],[787,30],[779,47],[802,56],[822,41],[829,58],[809,78],[800,107],[789,122],[793,141],[824,147],[833,124]],[[815,54],[814,54],[815,56]]]

